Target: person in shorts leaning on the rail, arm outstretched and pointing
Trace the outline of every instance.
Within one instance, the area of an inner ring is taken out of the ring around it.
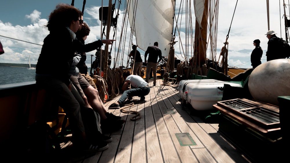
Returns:
[[[82,38],[83,43],[81,41],[74,42],[74,47],[76,48],[76,51],[79,52],[81,50],[87,49],[92,50],[99,48],[105,44],[112,44],[115,40],[98,40],[90,44],[84,45],[84,40],[86,39],[86,34]],[[103,101],[101,100],[99,96],[99,92],[97,89],[95,89],[84,76],[81,75],[79,72],[78,67],[76,66],[83,55],[76,53],[73,58],[72,66],[70,67],[70,71],[68,75],[70,76],[70,81],[75,85],[77,88],[79,94],[83,98],[86,107],[93,108],[99,115],[101,116],[101,127],[102,130],[106,131],[113,131],[116,129],[122,128],[122,124],[125,122],[125,120],[121,120],[120,116],[115,116],[112,113],[109,113],[104,106]]]

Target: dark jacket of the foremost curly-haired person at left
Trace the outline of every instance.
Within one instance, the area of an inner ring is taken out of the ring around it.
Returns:
[[[43,41],[36,74],[48,75],[69,85],[68,70],[74,54],[72,37],[67,28],[50,31]]]

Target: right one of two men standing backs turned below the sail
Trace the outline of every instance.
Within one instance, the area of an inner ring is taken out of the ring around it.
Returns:
[[[148,62],[146,60],[147,54],[149,54]],[[159,56],[159,60],[157,62],[158,56]],[[146,82],[148,83],[148,81],[149,81],[149,76],[150,76],[150,72],[151,72],[151,69],[152,69],[152,72],[153,72],[153,86],[156,85],[156,70],[157,70],[157,65],[159,64],[161,59],[162,59],[162,52],[158,48],[158,42],[155,42],[154,46],[148,46],[147,47],[147,50],[145,52],[145,63],[147,63]]]

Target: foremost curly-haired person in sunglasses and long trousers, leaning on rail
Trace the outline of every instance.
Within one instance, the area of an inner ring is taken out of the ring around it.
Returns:
[[[82,151],[102,151],[108,144],[89,142],[81,118],[80,104],[71,92],[68,71],[75,52],[73,40],[82,21],[81,11],[68,4],[58,4],[50,13],[46,27],[50,33],[44,39],[36,65],[36,84],[48,94],[68,116],[73,133],[73,146]],[[53,59],[53,60],[52,60]]]

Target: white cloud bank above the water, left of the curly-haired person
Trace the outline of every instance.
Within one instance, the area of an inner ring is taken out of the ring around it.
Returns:
[[[4,36],[0,38],[5,52],[1,55],[1,63],[27,63],[29,55],[31,63],[37,63],[43,40],[49,34],[47,28],[44,28],[44,25],[47,24],[47,20],[37,19],[39,14],[40,12],[36,10],[30,14],[30,19],[33,18],[35,21],[38,20],[38,22],[35,22],[32,25],[13,26],[11,23],[0,22],[0,35]]]

